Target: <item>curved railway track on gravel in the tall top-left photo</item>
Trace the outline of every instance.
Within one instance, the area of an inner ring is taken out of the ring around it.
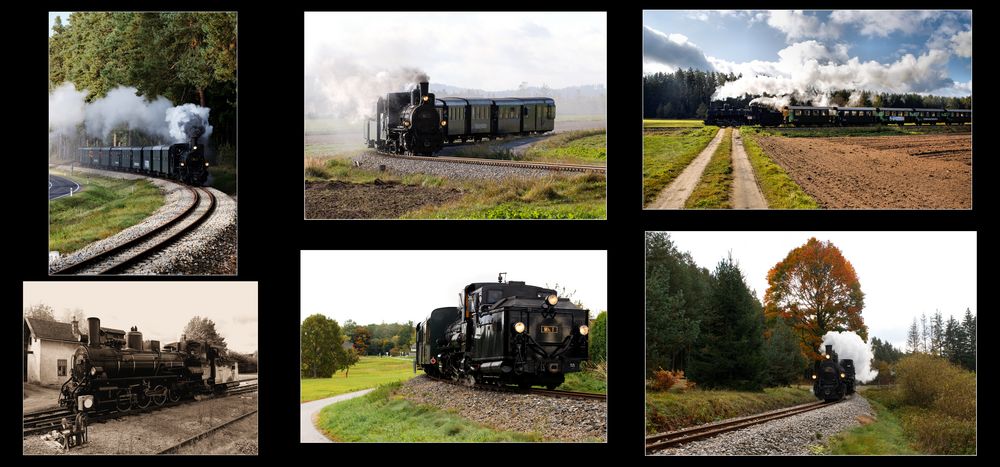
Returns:
[[[186,187],[191,203],[152,230],[75,264],[52,272],[63,274],[121,274],[195,230],[215,212],[215,195],[206,188]]]

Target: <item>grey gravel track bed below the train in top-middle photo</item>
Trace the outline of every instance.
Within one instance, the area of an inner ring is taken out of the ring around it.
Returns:
[[[354,158],[362,168],[378,170],[384,165],[386,170],[397,174],[423,173],[447,178],[463,178],[471,180],[497,180],[504,178],[539,178],[551,177],[551,170],[526,169],[522,167],[501,167],[493,165],[462,164],[459,162],[422,161],[412,159],[396,159],[377,153],[366,152]]]

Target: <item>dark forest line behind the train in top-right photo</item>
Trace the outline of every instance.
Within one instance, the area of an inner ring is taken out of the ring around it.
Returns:
[[[643,118],[705,118],[712,107],[729,105],[746,107],[761,96],[743,96],[713,101],[717,88],[742,75],[701,70],[677,70],[673,73],[653,73],[642,77]],[[862,107],[922,107],[922,108],[972,108],[972,96],[942,97],[916,93],[873,93],[869,91],[836,90],[828,94],[830,105],[845,106],[857,94],[853,105]],[[767,96],[773,97],[773,96]],[[811,105],[810,101],[791,98],[791,105]]]

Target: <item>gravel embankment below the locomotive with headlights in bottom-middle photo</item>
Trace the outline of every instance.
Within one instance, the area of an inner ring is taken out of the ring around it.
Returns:
[[[558,441],[604,442],[607,401],[558,398],[472,389],[426,376],[403,384],[397,394],[498,430],[537,432]]]

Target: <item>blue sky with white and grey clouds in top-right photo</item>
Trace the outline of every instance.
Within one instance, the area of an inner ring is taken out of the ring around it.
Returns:
[[[721,97],[810,85],[968,96],[972,11],[644,11],[643,73],[689,67],[742,73]]]

